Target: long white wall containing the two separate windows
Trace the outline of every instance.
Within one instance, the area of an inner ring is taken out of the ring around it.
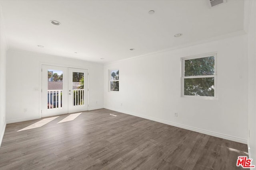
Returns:
[[[242,35],[105,64],[104,107],[247,143],[246,41]],[[180,58],[215,51],[218,100],[180,97]],[[108,69],[112,68],[120,70],[119,92],[108,92]]]

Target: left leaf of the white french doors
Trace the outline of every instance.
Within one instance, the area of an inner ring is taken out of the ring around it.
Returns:
[[[68,68],[42,65],[42,117],[68,113]]]

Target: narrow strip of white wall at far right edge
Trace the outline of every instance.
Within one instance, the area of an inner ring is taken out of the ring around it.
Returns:
[[[248,146],[256,165],[256,1],[252,1],[248,30]]]

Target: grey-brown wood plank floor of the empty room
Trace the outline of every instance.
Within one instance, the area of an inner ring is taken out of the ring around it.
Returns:
[[[19,132],[39,120],[8,124],[0,169],[235,170],[237,157],[248,156],[244,144],[108,109],[58,123],[66,116]]]

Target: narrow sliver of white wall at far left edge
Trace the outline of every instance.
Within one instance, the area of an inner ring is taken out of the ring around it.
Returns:
[[[6,126],[6,51],[2,10],[0,5],[0,146]]]

